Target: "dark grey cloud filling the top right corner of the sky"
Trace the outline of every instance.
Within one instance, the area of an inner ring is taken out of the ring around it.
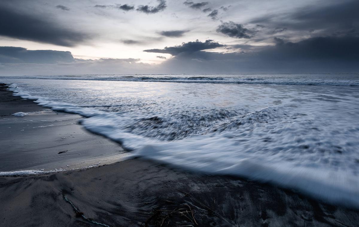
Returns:
[[[330,5],[309,5],[294,11],[269,14],[255,18],[251,23],[274,28],[272,33],[287,28],[288,31],[316,32],[316,35],[359,35],[359,1],[335,1]]]

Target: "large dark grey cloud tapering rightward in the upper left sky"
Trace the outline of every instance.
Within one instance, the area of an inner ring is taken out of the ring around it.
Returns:
[[[90,38],[88,34],[61,27],[45,17],[6,7],[0,7],[0,36],[60,46],[75,46]]]

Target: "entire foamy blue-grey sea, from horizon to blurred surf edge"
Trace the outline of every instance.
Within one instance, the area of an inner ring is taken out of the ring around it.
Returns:
[[[86,129],[129,157],[359,206],[358,74],[1,79],[16,96],[88,117]]]

